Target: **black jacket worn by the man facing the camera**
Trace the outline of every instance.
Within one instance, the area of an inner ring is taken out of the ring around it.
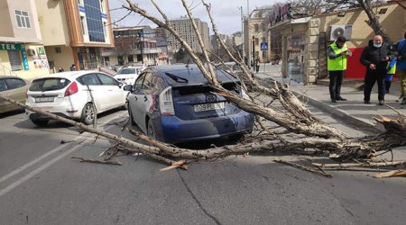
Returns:
[[[383,43],[381,48],[375,48],[374,42],[369,40],[368,46],[364,48],[363,53],[361,54],[360,62],[366,67],[367,72],[373,72],[369,68],[369,65],[374,64],[376,73],[386,73],[386,66],[388,61],[383,61],[383,58],[389,57],[389,60],[392,60],[391,46],[387,43]]]

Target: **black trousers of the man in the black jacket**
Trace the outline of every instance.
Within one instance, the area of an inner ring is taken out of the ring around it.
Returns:
[[[364,79],[364,101],[371,100],[371,91],[375,85],[378,83],[378,101],[385,100],[385,73],[386,71],[368,70],[365,74]]]

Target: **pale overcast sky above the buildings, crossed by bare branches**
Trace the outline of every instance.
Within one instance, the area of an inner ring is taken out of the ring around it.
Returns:
[[[159,13],[153,7],[150,0],[132,0],[134,3],[141,5],[141,8],[145,9],[149,14],[158,16]],[[180,18],[181,15],[186,15],[186,11],[183,8],[181,0],[155,0],[161,7],[161,10],[170,19]],[[248,0],[249,10],[253,11],[257,7],[264,5],[271,5],[276,2],[282,2],[278,0]],[[199,18],[203,22],[209,23],[208,14],[200,0],[187,0],[188,4],[193,9],[192,14],[194,17]],[[243,13],[247,13],[247,0],[206,0],[211,4],[211,14],[214,17],[217,29],[220,33],[231,34],[235,31],[241,31],[241,12],[239,7],[243,6]],[[121,8],[123,4],[126,4],[125,0],[109,0],[110,14],[112,17],[112,23],[119,21],[121,18],[128,14],[128,11]],[[121,9],[120,9],[121,8]],[[117,22],[118,25],[123,26],[137,26],[137,25],[150,25],[152,28],[156,27],[155,24],[143,19],[136,14],[130,14],[123,21]],[[209,24],[210,34],[211,24]]]

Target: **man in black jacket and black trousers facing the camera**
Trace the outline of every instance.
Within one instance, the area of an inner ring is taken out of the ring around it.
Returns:
[[[364,78],[364,103],[370,103],[371,91],[375,82],[378,83],[378,105],[383,105],[385,99],[384,77],[388,61],[393,55],[390,45],[383,42],[381,35],[375,35],[361,54],[360,62],[366,67]]]

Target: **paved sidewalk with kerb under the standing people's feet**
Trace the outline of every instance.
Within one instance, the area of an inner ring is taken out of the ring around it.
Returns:
[[[280,67],[280,66],[279,66]],[[291,85],[291,90],[304,103],[312,104],[319,109],[330,113],[332,116],[344,120],[347,123],[362,129],[382,131],[383,125],[374,121],[374,117],[386,116],[396,118],[397,112],[385,105],[376,105],[378,102],[377,85],[374,85],[371,94],[371,104],[364,104],[364,91],[356,90],[355,85],[343,85],[341,95],[347,101],[330,102],[328,85],[303,85],[290,79],[281,77],[281,70],[278,66],[267,67],[265,72],[254,74],[263,79],[273,79]],[[398,80],[393,80],[389,94],[385,94],[385,103],[399,112],[406,114],[406,105],[396,102],[400,96],[400,85]]]

